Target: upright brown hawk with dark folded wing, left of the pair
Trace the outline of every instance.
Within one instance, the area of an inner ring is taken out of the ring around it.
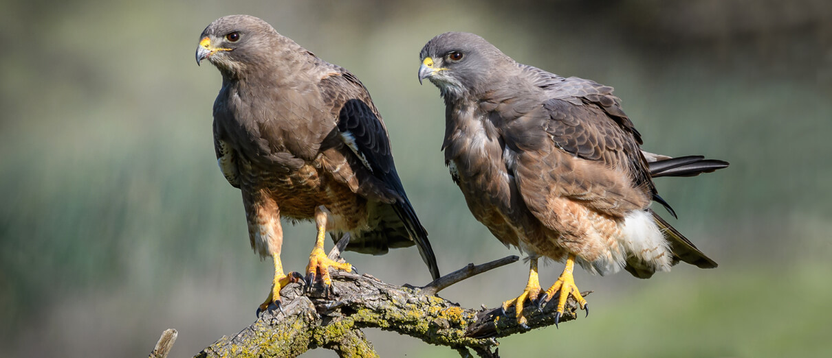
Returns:
[[[417,244],[433,278],[436,258],[396,174],[384,122],[358,78],[281,36],[257,17],[211,22],[196,61],[220,70],[214,146],[228,182],[239,188],[251,248],[273,257],[265,310],[300,278],[280,264],[280,218],[312,220],[317,240],[306,268],[330,284],[327,267],[350,270],[324,253],[327,232],[349,233],[348,250],[382,254]]]

